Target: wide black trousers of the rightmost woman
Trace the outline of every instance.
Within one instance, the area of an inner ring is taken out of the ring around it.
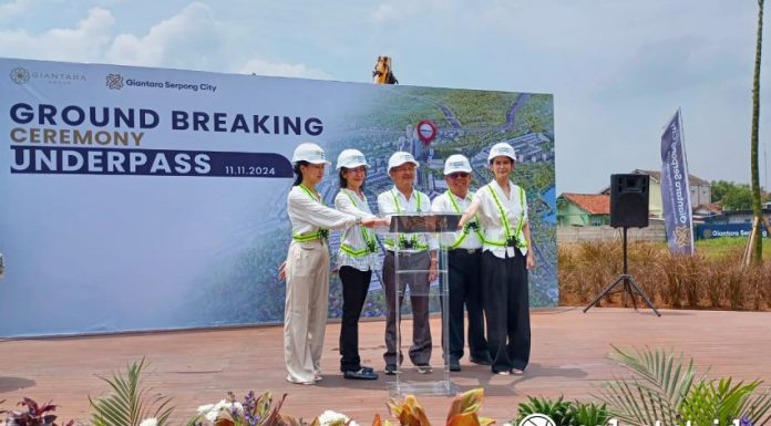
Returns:
[[[482,254],[483,305],[494,373],[525,370],[530,362],[527,268],[522,252],[514,251],[515,257],[506,259],[490,251]]]

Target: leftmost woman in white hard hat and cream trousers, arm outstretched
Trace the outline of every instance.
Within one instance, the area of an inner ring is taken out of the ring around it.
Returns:
[[[291,221],[291,243],[279,277],[286,277],[284,311],[284,357],[287,381],[312,385],[321,380],[321,352],[327,325],[329,298],[329,229],[363,225],[374,227],[383,220],[359,218],[323,204],[316,185],[329,164],[316,144],[300,144],[292,155],[297,175],[287,196]]]

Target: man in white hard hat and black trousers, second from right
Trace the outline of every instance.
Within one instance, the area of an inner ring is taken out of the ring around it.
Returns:
[[[438,214],[463,214],[471,205],[474,193],[471,185],[471,164],[462,155],[451,155],[444,162],[444,179],[448,190],[434,198],[431,209]],[[469,312],[469,357],[472,362],[490,365],[492,360],[487,352],[484,336],[484,314],[482,313],[482,283],[480,267],[482,264],[482,241],[484,240],[480,222],[470,220],[462,230],[444,233],[440,238],[442,247],[448,249],[449,280],[449,340],[446,351],[450,371],[461,371],[463,357],[463,306]]]

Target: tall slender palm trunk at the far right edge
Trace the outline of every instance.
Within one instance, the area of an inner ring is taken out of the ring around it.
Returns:
[[[758,122],[760,117],[760,52],[763,45],[763,1],[758,0],[758,43],[755,45],[755,69],[752,82],[752,135],[750,136],[750,169],[752,170],[752,263],[758,266],[763,259],[762,219],[760,207],[760,173],[758,170]]]

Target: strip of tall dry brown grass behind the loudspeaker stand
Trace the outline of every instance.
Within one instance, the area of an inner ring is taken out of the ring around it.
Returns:
[[[741,262],[747,239],[703,240],[696,254],[672,256],[664,242],[633,241],[629,273],[657,308],[771,309],[771,243],[764,240],[760,267]],[[558,247],[559,304],[588,303],[623,269],[619,241],[592,241]],[[627,298],[628,299],[628,298]],[[628,305],[620,294],[604,305]]]

